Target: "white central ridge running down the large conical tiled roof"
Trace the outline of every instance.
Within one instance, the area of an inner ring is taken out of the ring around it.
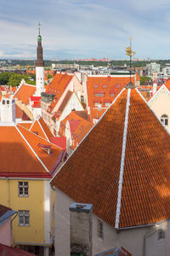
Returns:
[[[130,94],[131,89],[127,90],[127,106],[125,112],[125,122],[124,122],[124,131],[122,137],[122,156],[121,156],[121,170],[119,176],[119,186],[117,192],[117,205],[116,205],[116,220],[115,220],[115,228],[119,228],[119,218],[121,214],[121,200],[122,200],[122,181],[123,181],[123,172],[124,172],[124,163],[125,163],[125,152],[126,152],[126,143],[127,143],[127,125],[128,125],[128,113],[130,107]]]

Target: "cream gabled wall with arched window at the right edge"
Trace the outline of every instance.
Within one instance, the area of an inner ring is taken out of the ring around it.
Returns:
[[[156,95],[150,99],[148,105],[156,113],[158,119],[161,119],[162,114],[167,114],[169,119],[166,127],[170,131],[170,92],[165,85],[161,86],[161,89],[157,91]]]

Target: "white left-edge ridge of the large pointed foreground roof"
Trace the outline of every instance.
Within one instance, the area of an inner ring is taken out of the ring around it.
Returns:
[[[122,92],[123,92],[124,90],[125,90],[125,88],[123,88],[123,89],[121,90],[121,92],[116,96],[115,100],[111,103],[111,106],[116,102],[116,99],[122,94]],[[77,148],[82,144],[82,142],[85,140],[85,138],[88,137],[88,134],[94,129],[94,127],[99,124],[100,120],[105,116],[105,113],[107,113],[107,111],[111,108],[111,106],[110,106],[109,108],[107,108],[107,109],[105,110],[105,112],[100,116],[99,121],[98,121],[97,123],[95,123],[94,126],[88,131],[88,133],[86,134],[86,136],[83,137],[82,141],[78,144]],[[72,151],[72,153],[69,155],[69,157],[67,158],[67,160],[65,160],[65,163],[64,163],[62,166],[59,167],[59,170],[55,173],[54,177],[58,174],[58,172],[60,171],[61,167],[65,166],[66,162],[71,158],[71,155],[72,155],[73,153],[75,153],[75,151],[77,150],[77,148]],[[54,179],[54,177],[51,178],[50,183],[52,182],[52,180]]]

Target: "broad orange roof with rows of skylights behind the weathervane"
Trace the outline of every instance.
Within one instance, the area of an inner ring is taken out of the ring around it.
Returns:
[[[99,119],[105,112],[106,102],[113,102],[116,96],[130,81],[129,76],[92,76],[88,77],[87,90],[88,90],[88,106],[90,107],[91,119]],[[132,77],[134,83],[134,77]],[[97,94],[103,94],[104,96],[96,96]],[[95,103],[101,104],[102,110],[98,111],[95,107]]]

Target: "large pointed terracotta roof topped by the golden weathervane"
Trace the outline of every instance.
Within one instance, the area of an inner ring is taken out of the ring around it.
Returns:
[[[51,183],[117,229],[155,224],[170,218],[169,152],[139,90],[124,89]]]

